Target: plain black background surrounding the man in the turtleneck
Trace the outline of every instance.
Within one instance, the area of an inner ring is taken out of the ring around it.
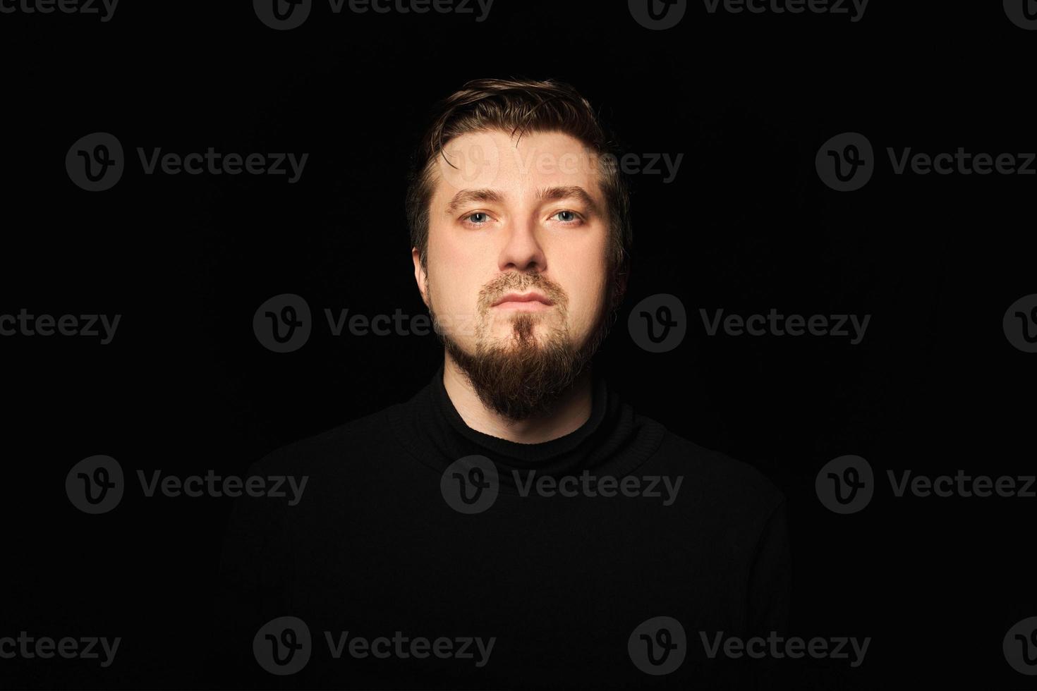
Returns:
[[[123,0],[114,17],[0,15],[4,70],[0,313],[119,314],[112,343],[0,338],[7,441],[0,635],[121,636],[115,664],[0,660],[4,688],[205,688],[197,663],[227,498],[145,498],[138,469],[243,473],[289,441],[405,400],[442,358],[432,336],[332,337],[323,310],[424,313],[404,174],[432,104],[469,80],[571,83],[624,150],[683,153],[634,175],[629,290],[599,354],[641,413],[766,473],[790,500],[790,633],[871,636],[852,688],[1037,688],[1002,638],[1037,614],[1026,498],[895,498],[887,469],[1034,468],[1034,357],[1002,329],[1037,292],[1037,177],[895,175],[886,147],[1037,149],[1037,32],[1001,3],[874,0],[846,15],[710,15],[649,31],[623,2],[497,0],[488,19],[333,15],[291,31],[250,3]],[[111,190],[69,180],[80,137],[128,154]],[[814,156],[860,132],[877,170],[825,186]],[[145,175],[163,152],[309,152],[302,179]],[[278,354],[256,308],[304,296],[316,323]],[[626,317],[672,293],[677,349],[638,348]],[[708,337],[710,313],[870,314],[863,342]],[[80,459],[116,458],[111,513],[72,506]],[[875,498],[818,501],[829,460],[859,454]],[[646,528],[647,529],[647,528]],[[846,661],[833,664],[845,668]],[[273,681],[272,681],[273,685]]]

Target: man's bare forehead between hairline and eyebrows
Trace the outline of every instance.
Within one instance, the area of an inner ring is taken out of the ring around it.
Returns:
[[[463,191],[489,190],[517,203],[553,188],[582,188],[604,205],[600,156],[564,133],[520,137],[488,129],[455,137],[443,148],[431,179],[433,208],[446,207]]]

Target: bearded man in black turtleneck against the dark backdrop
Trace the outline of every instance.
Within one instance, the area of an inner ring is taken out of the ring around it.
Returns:
[[[784,627],[784,497],[636,414],[591,358],[626,287],[627,192],[591,106],[479,80],[408,194],[445,346],[409,401],[281,449],[296,506],[243,497],[218,637],[312,688],[729,684],[716,636]],[[273,674],[273,675],[272,675]]]

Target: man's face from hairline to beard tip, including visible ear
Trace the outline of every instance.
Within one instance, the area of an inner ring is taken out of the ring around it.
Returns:
[[[560,133],[494,129],[445,148],[453,167],[440,157],[415,278],[480,397],[516,419],[542,412],[589,359],[609,307],[598,162]]]

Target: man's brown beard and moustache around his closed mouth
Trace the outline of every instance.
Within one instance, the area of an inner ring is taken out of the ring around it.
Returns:
[[[506,292],[535,288],[553,303],[553,312],[513,312],[499,317],[491,311],[493,303]],[[529,420],[551,413],[555,402],[569,391],[589,369],[590,362],[615,320],[617,290],[596,315],[590,336],[577,347],[568,330],[568,299],[560,287],[539,273],[504,273],[479,293],[475,329],[475,352],[470,353],[442,328],[428,292],[428,311],[436,334],[458,369],[472,384],[479,400],[488,409],[512,421]],[[508,322],[503,339],[489,336],[497,319]],[[557,320],[538,336],[540,322]]]

